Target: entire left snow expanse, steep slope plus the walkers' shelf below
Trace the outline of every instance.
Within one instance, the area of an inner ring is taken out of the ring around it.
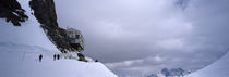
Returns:
[[[99,62],[53,61],[53,54],[60,52],[31,14],[29,0],[17,1],[29,18],[20,27],[0,18],[0,77],[117,77]]]

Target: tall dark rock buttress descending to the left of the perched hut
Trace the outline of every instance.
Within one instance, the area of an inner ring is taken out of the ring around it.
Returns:
[[[61,36],[64,29],[58,27],[53,0],[32,0],[29,5],[52,43],[55,43],[61,52],[70,50],[70,44],[64,37]]]

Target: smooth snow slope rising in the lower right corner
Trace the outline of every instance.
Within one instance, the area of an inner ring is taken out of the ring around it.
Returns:
[[[215,63],[185,77],[229,77],[229,53]]]

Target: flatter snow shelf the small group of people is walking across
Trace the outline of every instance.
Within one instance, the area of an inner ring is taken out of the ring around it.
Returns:
[[[53,61],[52,51],[40,47],[1,42],[0,50],[0,77],[117,77],[99,62]]]

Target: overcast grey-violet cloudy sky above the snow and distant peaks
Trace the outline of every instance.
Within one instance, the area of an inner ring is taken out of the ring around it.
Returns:
[[[228,0],[55,0],[58,24],[80,29],[87,56],[121,76],[196,70],[229,50]]]

